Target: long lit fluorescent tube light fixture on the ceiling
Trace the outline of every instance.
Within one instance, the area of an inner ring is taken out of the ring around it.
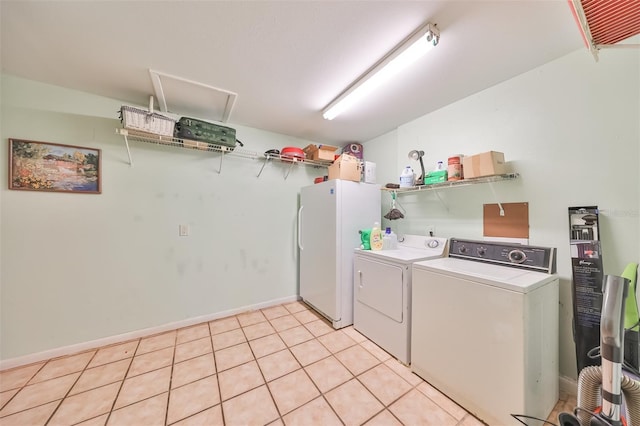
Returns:
[[[440,31],[434,24],[427,23],[418,28],[334,99],[323,110],[322,116],[327,120],[333,120],[378,86],[414,63],[433,46],[436,46],[439,41]]]

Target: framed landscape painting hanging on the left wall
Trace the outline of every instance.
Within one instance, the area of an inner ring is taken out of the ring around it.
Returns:
[[[9,189],[100,194],[99,149],[9,139]]]

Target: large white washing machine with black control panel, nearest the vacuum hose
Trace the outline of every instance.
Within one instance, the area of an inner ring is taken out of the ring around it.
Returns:
[[[490,425],[558,400],[555,249],[452,238],[413,265],[411,369]]]

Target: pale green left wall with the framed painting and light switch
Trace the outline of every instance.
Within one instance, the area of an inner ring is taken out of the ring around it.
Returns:
[[[131,142],[117,100],[2,76],[8,138],[102,150],[102,194],[0,190],[0,359],[295,297],[300,187],[322,169]],[[231,124],[245,148],[308,141]],[[6,179],[6,178],[5,178]],[[178,225],[190,236],[180,237]]]

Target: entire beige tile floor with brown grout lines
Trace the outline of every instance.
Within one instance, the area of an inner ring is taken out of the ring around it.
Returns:
[[[1,426],[365,423],[482,425],[300,302],[0,372]]]

